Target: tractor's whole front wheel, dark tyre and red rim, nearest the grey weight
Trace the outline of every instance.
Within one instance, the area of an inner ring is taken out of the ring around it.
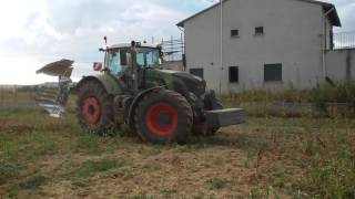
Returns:
[[[193,114],[185,97],[172,91],[149,93],[135,109],[134,125],[144,142],[186,143]]]

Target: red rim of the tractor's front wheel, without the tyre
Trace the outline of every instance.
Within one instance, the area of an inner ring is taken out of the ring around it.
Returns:
[[[178,111],[168,103],[156,103],[148,109],[145,121],[152,133],[166,136],[178,127]]]

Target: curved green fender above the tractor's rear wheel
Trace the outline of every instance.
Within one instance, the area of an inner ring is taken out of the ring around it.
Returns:
[[[122,93],[122,88],[118,81],[114,77],[111,77],[109,75],[91,75],[91,76],[84,76],[77,85],[77,91],[87,82],[95,81],[101,84],[101,86],[104,88],[104,91],[110,95],[118,95]]]

